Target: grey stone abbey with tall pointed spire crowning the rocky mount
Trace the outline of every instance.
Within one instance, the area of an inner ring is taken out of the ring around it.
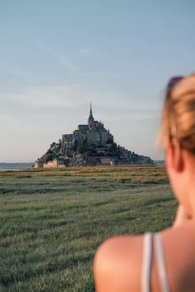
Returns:
[[[82,147],[84,144],[106,146],[108,141],[113,142],[114,137],[101,121],[94,120],[90,105],[88,124],[78,125],[72,134],[62,136],[62,155],[69,156],[71,150],[74,149],[75,142]]]

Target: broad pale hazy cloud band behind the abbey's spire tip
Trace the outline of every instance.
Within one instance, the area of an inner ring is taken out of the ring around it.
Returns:
[[[0,113],[29,116],[87,119],[92,101],[94,117],[106,123],[140,121],[159,116],[158,102],[131,98],[121,91],[100,90],[81,85],[23,87],[18,93],[0,94]]]

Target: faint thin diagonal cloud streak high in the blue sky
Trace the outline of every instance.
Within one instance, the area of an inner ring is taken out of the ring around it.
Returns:
[[[60,64],[62,64],[63,66],[65,66],[66,69],[68,69],[69,71],[71,71],[71,72],[77,72],[78,71],[77,66],[75,66],[71,62],[69,57],[54,52],[52,49],[50,49],[49,47],[45,46],[44,44],[42,44],[40,42],[35,42],[35,46],[37,48],[39,48],[40,50],[42,50],[44,52],[47,52],[50,55],[53,55],[53,57],[55,57],[55,59],[57,59],[58,62]]]

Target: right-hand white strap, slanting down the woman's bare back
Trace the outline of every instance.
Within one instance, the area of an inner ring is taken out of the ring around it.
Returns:
[[[155,248],[155,256],[157,260],[157,270],[158,270],[158,275],[159,275],[161,292],[170,292],[168,281],[167,281],[165,259],[164,259],[163,246],[162,246],[160,233],[154,234],[154,248]]]

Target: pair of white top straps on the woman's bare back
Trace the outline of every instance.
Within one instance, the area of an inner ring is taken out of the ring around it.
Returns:
[[[151,233],[144,235],[143,266],[142,266],[142,292],[150,292],[150,270],[152,262],[152,237]],[[170,292],[167,282],[164,253],[160,233],[154,234],[154,248],[157,259],[157,270],[161,292]]]

